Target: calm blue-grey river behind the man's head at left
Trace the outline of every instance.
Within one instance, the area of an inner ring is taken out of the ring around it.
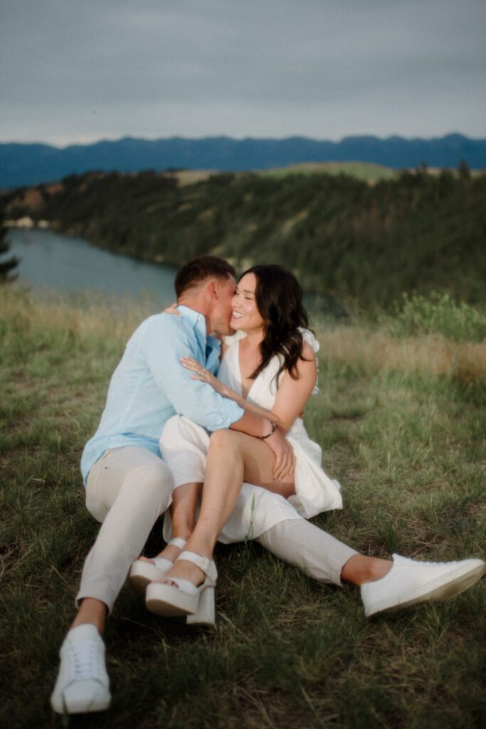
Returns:
[[[165,306],[174,300],[176,270],[103,251],[84,238],[36,228],[10,228],[11,254],[20,258],[18,281],[33,289],[78,291],[109,295],[153,295]]]

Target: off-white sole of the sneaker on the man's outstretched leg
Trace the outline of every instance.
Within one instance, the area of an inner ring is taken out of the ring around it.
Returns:
[[[476,564],[470,565],[466,568],[466,565],[458,569],[455,576],[452,574],[443,575],[436,580],[432,580],[427,585],[420,585],[420,590],[417,590],[412,597],[407,600],[393,601],[393,598],[381,600],[367,607],[365,610],[366,617],[372,617],[377,615],[379,612],[394,612],[395,610],[401,610],[405,607],[411,607],[412,605],[420,602],[433,601],[433,600],[447,600],[450,597],[458,595],[459,593],[467,590],[477,582],[486,571],[486,564],[481,560],[475,560]],[[465,571],[466,570],[466,571]]]

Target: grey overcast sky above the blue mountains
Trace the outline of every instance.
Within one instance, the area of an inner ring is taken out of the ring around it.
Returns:
[[[486,137],[485,0],[0,0],[0,141]]]

